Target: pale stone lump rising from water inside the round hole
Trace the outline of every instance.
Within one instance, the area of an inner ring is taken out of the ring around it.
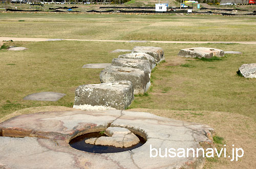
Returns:
[[[108,127],[105,132],[106,136],[99,138],[90,138],[86,143],[101,146],[114,146],[114,147],[131,147],[140,142],[140,139],[130,130],[122,127]]]

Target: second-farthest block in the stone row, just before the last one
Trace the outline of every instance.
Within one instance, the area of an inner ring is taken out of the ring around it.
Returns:
[[[118,58],[147,60],[148,62],[150,62],[151,69],[153,69],[156,66],[156,62],[154,58],[151,55],[142,53],[142,52],[122,54],[122,55],[119,55]]]

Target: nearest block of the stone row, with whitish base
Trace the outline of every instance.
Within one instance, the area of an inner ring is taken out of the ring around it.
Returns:
[[[76,89],[73,108],[82,110],[125,109],[132,100],[131,81],[116,81],[81,85]]]

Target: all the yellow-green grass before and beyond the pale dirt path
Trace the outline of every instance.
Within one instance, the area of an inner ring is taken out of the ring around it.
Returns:
[[[198,29],[181,36],[185,33],[177,30],[191,29],[188,22],[201,27],[201,32]],[[173,24],[175,30],[167,29],[174,28]],[[221,41],[227,39],[216,30],[229,27],[227,34],[232,40],[255,41],[253,30],[239,32],[239,28],[248,30],[253,26],[255,17],[0,13],[0,35],[3,37],[135,40],[132,37],[136,34],[137,40],[175,40],[173,38],[178,37],[188,41]],[[161,27],[159,32],[168,36],[158,37],[160,33],[153,27]],[[79,85],[100,83],[101,69],[85,69],[83,65],[111,63],[119,54],[111,53],[115,49],[159,46],[164,49],[165,62],[152,72],[152,87],[147,96],[136,96],[129,109],[208,124],[224,138],[223,144],[229,148],[235,144],[245,151],[240,161],[215,158],[208,160],[205,168],[255,166],[256,79],[245,79],[236,73],[242,64],[256,63],[255,45],[85,41],[6,42],[5,45],[27,47],[28,50],[0,50],[0,122],[19,114],[65,109],[55,106],[72,107]],[[243,54],[225,54],[221,60],[212,62],[177,56],[182,48],[198,46]],[[23,100],[28,94],[46,91],[67,95],[56,102]]]

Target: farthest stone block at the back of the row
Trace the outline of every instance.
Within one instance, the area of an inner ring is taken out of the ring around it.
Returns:
[[[154,46],[135,46],[132,52],[144,52],[151,55],[156,63],[160,63],[164,60],[164,52],[161,47]]]

